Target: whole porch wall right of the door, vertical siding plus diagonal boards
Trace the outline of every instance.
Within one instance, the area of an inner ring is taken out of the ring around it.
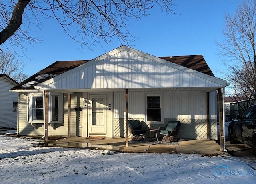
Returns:
[[[144,121],[145,95],[147,92],[129,92],[129,118]],[[157,94],[157,93],[154,93]],[[207,139],[206,92],[205,91],[162,91],[164,124],[169,120],[182,122],[178,135],[184,139]],[[212,97],[214,94],[212,94]],[[114,136],[122,137],[125,132],[125,94],[114,92]],[[217,139],[217,125],[211,110],[210,139]],[[158,128],[163,124],[147,123],[150,128]]]

